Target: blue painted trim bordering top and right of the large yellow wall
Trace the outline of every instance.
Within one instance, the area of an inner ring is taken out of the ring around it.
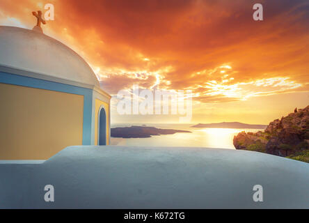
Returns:
[[[35,89],[45,89],[49,91],[59,91],[64,93],[84,95],[83,145],[91,144],[91,117],[93,109],[92,89],[86,89],[79,86],[73,86],[70,84],[49,82],[43,79],[37,79],[33,77],[13,75],[7,72],[0,72],[0,83],[28,86]]]

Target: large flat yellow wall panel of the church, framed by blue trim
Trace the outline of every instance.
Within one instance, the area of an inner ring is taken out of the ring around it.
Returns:
[[[46,160],[81,145],[84,96],[0,84],[0,160]]]

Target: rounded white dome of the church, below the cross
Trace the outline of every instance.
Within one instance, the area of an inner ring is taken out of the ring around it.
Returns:
[[[63,43],[43,33],[0,26],[0,66],[69,84],[100,86],[88,63]],[[29,76],[29,75],[28,75]],[[32,75],[33,77],[33,75]]]

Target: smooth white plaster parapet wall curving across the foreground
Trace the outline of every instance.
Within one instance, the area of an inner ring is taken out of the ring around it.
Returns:
[[[71,146],[43,164],[0,164],[0,176],[0,208],[309,208],[308,163],[251,151]]]

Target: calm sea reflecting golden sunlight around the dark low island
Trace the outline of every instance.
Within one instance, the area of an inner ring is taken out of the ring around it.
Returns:
[[[112,125],[115,127],[131,126],[132,124]],[[135,124],[141,125],[141,124]],[[189,130],[191,133],[177,132],[175,134],[162,134],[150,138],[122,139],[111,138],[111,144],[119,146],[200,146],[208,148],[231,148],[233,137],[239,132],[258,132],[256,129],[234,128],[190,128],[192,124],[149,124],[156,128],[170,128],[175,130]]]

